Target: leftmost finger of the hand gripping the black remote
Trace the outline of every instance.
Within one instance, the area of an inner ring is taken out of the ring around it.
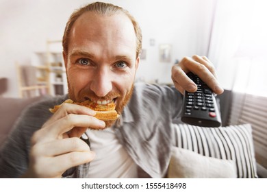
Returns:
[[[185,89],[188,92],[195,92],[197,90],[196,84],[178,65],[175,65],[172,68],[172,79],[175,84],[175,88],[177,88],[182,94]]]

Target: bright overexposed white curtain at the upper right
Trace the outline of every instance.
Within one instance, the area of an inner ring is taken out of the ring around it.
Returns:
[[[229,90],[267,97],[267,1],[217,0],[209,58]]]

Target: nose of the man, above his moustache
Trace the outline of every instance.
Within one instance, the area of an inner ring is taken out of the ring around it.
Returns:
[[[98,97],[105,97],[107,93],[112,91],[112,74],[109,69],[96,69],[90,89],[94,91]]]

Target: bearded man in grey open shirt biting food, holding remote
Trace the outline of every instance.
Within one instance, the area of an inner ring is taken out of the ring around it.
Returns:
[[[170,160],[171,125],[179,119],[182,104],[177,90],[196,91],[186,73],[199,75],[215,93],[223,89],[212,63],[200,56],[184,58],[173,67],[177,90],[133,86],[141,47],[138,23],[122,8],[98,2],[73,13],[63,37],[68,97],[99,104],[114,101],[120,119],[100,121],[93,117],[93,110],[74,104],[63,104],[51,115],[48,109],[67,96],[35,104],[23,114],[1,150],[1,176],[164,177]]]

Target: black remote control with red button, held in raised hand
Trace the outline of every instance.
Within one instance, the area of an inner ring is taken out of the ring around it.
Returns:
[[[187,75],[198,88],[195,93],[185,91],[181,121],[201,127],[220,127],[220,112],[212,89],[194,73]]]

